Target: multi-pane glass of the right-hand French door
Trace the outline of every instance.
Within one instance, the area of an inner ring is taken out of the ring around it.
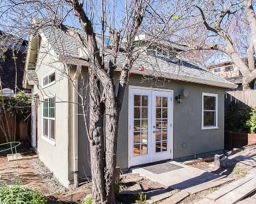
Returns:
[[[167,151],[168,97],[156,96],[156,152]]]

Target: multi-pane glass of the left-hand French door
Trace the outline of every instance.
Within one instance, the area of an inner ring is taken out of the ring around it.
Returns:
[[[134,95],[133,154],[148,154],[148,95]]]

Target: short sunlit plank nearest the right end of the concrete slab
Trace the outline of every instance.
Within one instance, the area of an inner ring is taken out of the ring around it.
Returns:
[[[217,187],[219,185],[222,185],[223,183],[227,183],[232,180],[233,179],[231,179],[231,178],[223,178],[223,179],[219,179],[217,181],[208,181],[205,183],[201,183],[199,185],[195,185],[193,187],[189,187],[185,190],[190,194],[199,193],[199,192],[209,189],[211,187]]]

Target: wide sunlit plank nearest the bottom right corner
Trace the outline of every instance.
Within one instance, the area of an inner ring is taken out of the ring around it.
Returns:
[[[256,190],[256,178],[253,178],[233,191],[216,200],[216,203],[233,204],[241,201],[244,197]]]

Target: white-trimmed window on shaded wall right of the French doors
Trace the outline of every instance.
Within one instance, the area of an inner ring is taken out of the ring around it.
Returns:
[[[217,127],[217,94],[203,93],[202,129]]]

